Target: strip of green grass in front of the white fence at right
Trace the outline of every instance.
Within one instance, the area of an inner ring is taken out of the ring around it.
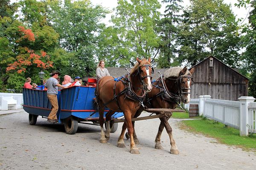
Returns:
[[[256,152],[256,134],[239,136],[239,130],[209,119],[184,120],[182,129],[213,137],[223,144],[234,145]]]

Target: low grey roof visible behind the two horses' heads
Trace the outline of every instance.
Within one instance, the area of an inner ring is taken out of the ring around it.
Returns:
[[[125,70],[125,68],[108,67],[107,69],[109,74],[113,77],[121,77],[122,75],[125,75],[128,73]],[[127,68],[127,69],[131,71],[131,68]],[[160,71],[160,73],[163,74],[168,69],[169,68],[154,68],[154,74],[152,74],[152,80],[160,77],[160,74],[158,74],[158,71]]]

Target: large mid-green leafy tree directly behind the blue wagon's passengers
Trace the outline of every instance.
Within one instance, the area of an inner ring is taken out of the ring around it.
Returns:
[[[95,74],[98,34],[105,28],[100,20],[108,10],[93,6],[89,0],[61,0],[50,4],[52,26],[60,35],[59,44],[73,56],[69,58],[70,75]]]

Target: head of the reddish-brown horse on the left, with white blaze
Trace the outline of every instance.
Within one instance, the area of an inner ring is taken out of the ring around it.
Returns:
[[[143,85],[143,89],[146,92],[150,92],[152,89],[151,85],[151,74],[154,73],[154,69],[151,66],[151,59],[150,57],[147,59],[139,59],[137,58],[137,64],[131,70],[131,74],[139,75],[140,77],[140,84]]]

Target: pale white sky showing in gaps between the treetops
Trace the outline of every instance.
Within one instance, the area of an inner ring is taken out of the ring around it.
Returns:
[[[113,8],[115,8],[117,6],[117,1],[118,0],[91,0],[93,5],[102,5],[103,7],[108,8],[109,10],[112,10]],[[162,0],[158,0],[158,1],[161,3]],[[247,14],[248,14],[249,8],[237,8],[235,6],[235,3],[237,3],[237,0],[224,0],[224,3],[231,4],[232,11],[236,15],[237,18],[243,18],[243,19],[246,18],[244,20],[243,24],[248,23],[247,17],[249,15],[247,16]],[[183,0],[183,4],[181,4],[181,5],[184,7],[189,6],[190,2],[189,2],[189,0]],[[162,7],[160,9],[161,14],[163,14],[164,10],[165,10],[165,5],[162,4]],[[107,26],[111,25],[109,20],[111,20],[112,14],[114,14],[114,13],[112,12],[110,14],[107,14],[106,18],[104,20],[102,20],[102,22],[105,23]]]

